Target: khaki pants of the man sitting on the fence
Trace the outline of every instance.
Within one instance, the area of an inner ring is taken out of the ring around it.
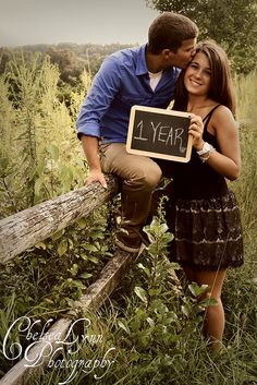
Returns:
[[[160,167],[146,156],[128,154],[122,143],[101,145],[100,157],[102,172],[114,173],[122,180],[121,227],[128,233],[138,232],[145,225],[151,194],[160,181]]]

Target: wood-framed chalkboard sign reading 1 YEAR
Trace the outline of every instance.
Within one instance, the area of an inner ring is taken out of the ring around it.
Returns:
[[[186,163],[191,158],[189,113],[133,106],[126,151],[130,154]]]

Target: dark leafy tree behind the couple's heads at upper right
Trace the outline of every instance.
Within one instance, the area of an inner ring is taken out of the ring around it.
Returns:
[[[257,0],[146,0],[149,8],[185,14],[199,27],[199,38],[215,39],[237,73],[257,62]]]

